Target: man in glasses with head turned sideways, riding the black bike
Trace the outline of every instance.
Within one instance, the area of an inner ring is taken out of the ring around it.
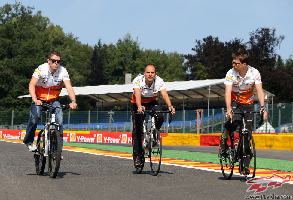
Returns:
[[[261,110],[264,110],[262,116],[264,120],[267,119],[267,112],[264,105],[264,91],[262,89],[261,75],[257,69],[249,66],[250,55],[247,51],[238,51],[232,54],[232,66],[226,74],[225,84],[225,102],[227,112],[226,118],[233,118],[233,123],[228,120],[225,124],[225,131],[221,135],[220,148],[222,150],[227,149],[227,140],[229,132],[236,130],[240,124],[240,114],[231,115],[231,110],[235,112],[240,111],[252,111],[254,94],[253,88],[256,87],[258,93],[258,100],[261,104]],[[261,113],[260,110],[260,113]],[[247,114],[246,116],[246,128],[252,130],[253,114]],[[250,159],[244,163],[246,173],[249,174],[249,170],[246,166],[249,165]]]

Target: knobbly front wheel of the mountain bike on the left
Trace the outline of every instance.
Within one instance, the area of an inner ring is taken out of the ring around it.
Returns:
[[[48,171],[50,178],[56,178],[61,161],[61,137],[58,130],[50,134],[50,148],[48,155]]]

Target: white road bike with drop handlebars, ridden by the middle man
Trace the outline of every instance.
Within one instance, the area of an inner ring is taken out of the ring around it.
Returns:
[[[143,107],[142,107],[143,110]],[[151,115],[151,119],[146,121],[145,117],[146,114],[148,113]],[[151,173],[154,176],[157,176],[160,170],[161,166],[161,158],[162,158],[162,143],[161,143],[161,136],[160,132],[156,129],[155,125],[155,113],[158,112],[163,112],[163,113],[171,113],[172,112],[172,107],[171,111],[159,111],[155,109],[151,110],[145,110],[143,111],[143,132],[142,132],[142,166],[140,167],[135,167],[137,173],[141,173],[143,166],[145,164],[145,158],[150,158],[150,165],[151,165]],[[171,123],[172,120],[172,115],[170,115],[169,119],[169,124]],[[147,133],[146,132],[146,126],[147,124],[150,124],[151,129]]]

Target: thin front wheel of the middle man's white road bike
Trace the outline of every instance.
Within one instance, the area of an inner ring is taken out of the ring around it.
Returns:
[[[157,176],[161,166],[162,159],[162,142],[160,133],[157,129],[153,129],[153,140],[150,145],[150,165],[151,173],[154,176]]]

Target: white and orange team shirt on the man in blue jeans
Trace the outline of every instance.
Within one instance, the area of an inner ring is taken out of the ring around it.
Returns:
[[[49,63],[38,66],[32,76],[39,79],[35,86],[36,96],[45,102],[58,99],[62,89],[62,82],[70,80],[67,70],[61,65],[59,65],[56,72],[52,75],[49,71]]]

